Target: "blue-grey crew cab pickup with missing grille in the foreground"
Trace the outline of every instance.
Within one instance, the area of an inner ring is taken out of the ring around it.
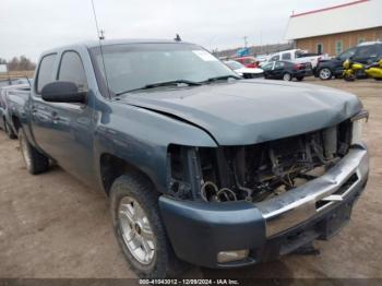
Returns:
[[[355,95],[243,81],[188,43],[46,51],[17,115],[27,170],[55,162],[104,192],[140,277],[251,265],[329,239],[368,180],[368,112]]]

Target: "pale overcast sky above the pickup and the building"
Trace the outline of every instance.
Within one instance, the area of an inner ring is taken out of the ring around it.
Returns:
[[[205,48],[285,41],[288,19],[351,0],[94,0],[107,38],[174,38]],[[0,58],[96,39],[91,0],[1,0]],[[318,23],[319,25],[319,23]]]

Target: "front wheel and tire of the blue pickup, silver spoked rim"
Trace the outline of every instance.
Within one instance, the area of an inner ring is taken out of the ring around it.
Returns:
[[[123,175],[112,183],[110,212],[117,240],[139,277],[164,278],[180,270],[159,216],[156,190],[143,176]]]

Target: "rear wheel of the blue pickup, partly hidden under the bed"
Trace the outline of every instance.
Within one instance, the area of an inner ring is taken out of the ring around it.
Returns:
[[[37,175],[49,169],[49,158],[31,145],[22,129],[19,130],[19,142],[20,151],[28,172]]]

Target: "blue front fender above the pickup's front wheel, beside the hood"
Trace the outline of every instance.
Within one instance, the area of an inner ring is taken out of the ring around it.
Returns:
[[[139,107],[110,103],[97,111],[95,162],[102,154],[121,158],[143,171],[157,190],[167,192],[167,148],[170,144],[216,147],[198,127]],[[102,178],[99,178],[102,181]]]

